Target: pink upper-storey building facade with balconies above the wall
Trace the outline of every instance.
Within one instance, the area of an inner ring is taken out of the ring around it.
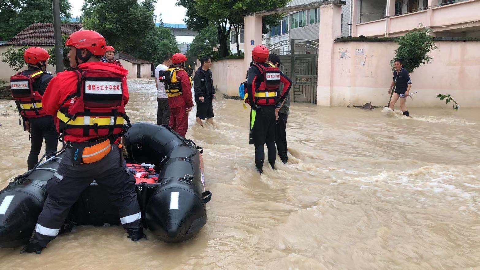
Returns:
[[[399,36],[421,23],[433,36],[480,37],[480,0],[353,0],[352,22],[352,36]]]

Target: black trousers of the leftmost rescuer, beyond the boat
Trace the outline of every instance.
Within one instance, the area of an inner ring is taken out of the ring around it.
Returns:
[[[32,146],[30,147],[27,165],[28,170],[31,170],[38,162],[38,155],[40,154],[40,150],[42,150],[43,138],[45,138],[45,153],[53,155],[57,152],[59,134],[53,123],[53,116],[28,118],[28,123],[30,125],[30,141],[32,142]]]

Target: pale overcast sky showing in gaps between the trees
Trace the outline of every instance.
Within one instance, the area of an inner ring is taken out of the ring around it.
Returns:
[[[82,15],[82,6],[84,0],[69,0],[72,5],[72,16],[80,17]],[[162,19],[164,23],[184,23],[186,9],[184,7],[176,6],[176,0],[157,0],[155,4],[155,14],[157,20],[160,22],[160,13],[162,13]],[[153,20],[153,18],[152,18]],[[192,42],[192,36],[177,36],[177,42]]]

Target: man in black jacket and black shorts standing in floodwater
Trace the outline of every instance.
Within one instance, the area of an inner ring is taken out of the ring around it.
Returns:
[[[207,123],[213,123],[213,99],[215,96],[215,88],[213,86],[213,77],[210,67],[212,59],[204,56],[200,59],[202,66],[195,71],[193,78],[193,90],[195,91],[195,102],[197,103],[197,123],[204,126],[202,120],[207,118]]]

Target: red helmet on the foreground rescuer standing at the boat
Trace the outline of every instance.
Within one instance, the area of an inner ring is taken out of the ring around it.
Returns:
[[[105,42],[105,37],[93,30],[79,30],[67,38],[65,46],[87,49],[93,55],[103,56],[105,55],[107,42]]]

